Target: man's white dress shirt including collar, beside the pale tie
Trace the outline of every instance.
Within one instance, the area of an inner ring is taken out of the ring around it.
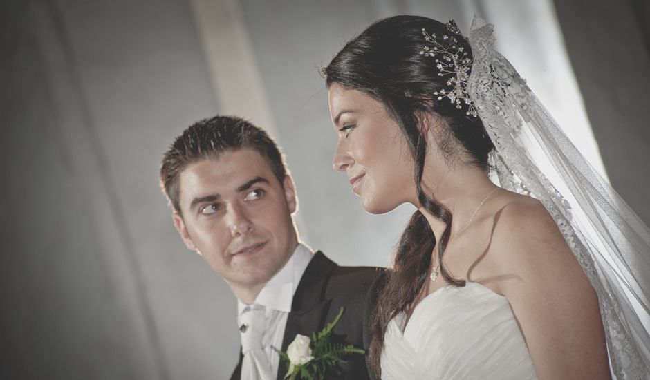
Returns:
[[[282,339],[293,303],[293,294],[313,256],[313,251],[309,247],[298,244],[284,267],[264,285],[253,303],[266,307],[266,332],[262,336],[262,345],[274,376],[279,368],[280,356],[273,347],[282,349]],[[248,311],[251,306],[237,300],[237,328],[241,326],[241,314]]]

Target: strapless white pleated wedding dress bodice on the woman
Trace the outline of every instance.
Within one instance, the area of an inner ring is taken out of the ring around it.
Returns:
[[[537,379],[510,304],[479,283],[442,287],[405,319],[387,326],[383,380]]]

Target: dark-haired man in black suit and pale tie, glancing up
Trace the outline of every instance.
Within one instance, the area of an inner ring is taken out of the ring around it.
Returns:
[[[237,297],[239,363],[231,380],[283,379],[297,334],[322,330],[344,307],[333,343],[367,350],[370,267],[339,267],[299,243],[295,186],[266,132],[237,117],[189,126],[165,153],[160,183],[174,225]],[[326,379],[371,379],[364,355],[328,370]]]

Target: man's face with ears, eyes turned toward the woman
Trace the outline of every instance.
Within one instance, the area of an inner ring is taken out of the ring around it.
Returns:
[[[205,158],[180,174],[174,224],[189,249],[232,286],[259,287],[279,271],[297,245],[291,214],[293,181],[281,184],[252,149]]]

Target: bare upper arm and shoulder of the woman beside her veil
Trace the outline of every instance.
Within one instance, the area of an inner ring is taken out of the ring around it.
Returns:
[[[607,377],[596,292],[539,201],[512,196],[503,202],[486,258],[492,289],[508,300],[540,377],[567,374],[578,361],[599,372],[584,378]]]

